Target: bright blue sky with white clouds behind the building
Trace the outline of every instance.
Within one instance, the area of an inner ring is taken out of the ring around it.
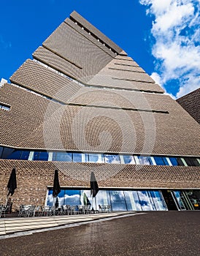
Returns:
[[[174,99],[199,88],[199,0],[0,1],[0,80],[73,10],[145,69]]]

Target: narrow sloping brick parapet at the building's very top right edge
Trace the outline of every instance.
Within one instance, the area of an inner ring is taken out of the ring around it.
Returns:
[[[74,20],[75,22],[81,24],[85,29],[88,29],[88,31],[91,31],[92,34],[94,34],[96,37],[101,39],[104,43],[110,46],[113,50],[115,50],[118,54],[125,53],[122,48],[120,48],[118,45],[115,44],[115,42],[112,42],[109,37],[105,36],[99,29],[96,29],[95,26],[93,26],[91,23],[88,22],[88,20],[85,20],[78,12],[74,11],[70,14],[70,19]]]

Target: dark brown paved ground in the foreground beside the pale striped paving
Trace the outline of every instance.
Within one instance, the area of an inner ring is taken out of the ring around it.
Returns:
[[[200,211],[146,212],[0,240],[1,256],[200,255]]]

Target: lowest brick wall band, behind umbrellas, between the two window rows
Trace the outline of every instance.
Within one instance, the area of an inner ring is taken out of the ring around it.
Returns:
[[[55,168],[61,187],[90,188],[91,171],[95,172],[100,188],[199,188],[200,171],[197,167],[150,165],[114,165],[67,162],[31,162],[0,159],[0,203],[7,195],[7,182],[12,167],[16,167],[18,189],[12,196],[13,209],[20,203],[43,205],[47,187],[53,187]]]

